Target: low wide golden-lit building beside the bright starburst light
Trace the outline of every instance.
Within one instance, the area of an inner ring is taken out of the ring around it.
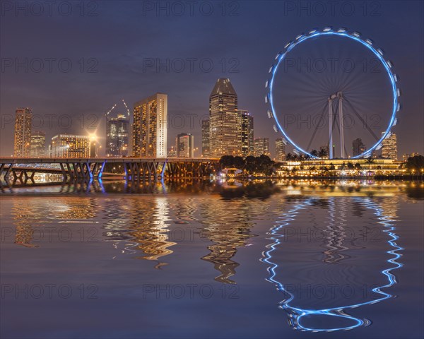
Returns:
[[[58,134],[52,138],[52,157],[90,157],[90,136]]]

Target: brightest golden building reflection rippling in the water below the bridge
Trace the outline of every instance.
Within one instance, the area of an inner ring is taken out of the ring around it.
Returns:
[[[117,205],[116,199],[105,203],[103,235],[107,240],[122,254],[140,251],[142,255],[135,258],[157,261],[155,268],[167,265],[163,258],[172,254],[170,247],[176,244],[169,239],[172,220],[167,198],[126,198],[125,206]]]

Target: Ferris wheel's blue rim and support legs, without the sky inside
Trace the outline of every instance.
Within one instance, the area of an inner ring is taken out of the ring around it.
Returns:
[[[372,44],[372,41],[369,39],[363,40],[360,37],[360,34],[358,32],[349,33],[346,31],[346,29],[341,28],[339,30],[332,30],[331,28],[324,28],[324,30],[311,30],[307,34],[301,34],[298,35],[294,41],[288,42],[288,44],[284,47],[284,52],[280,52],[276,56],[276,64],[271,66],[269,69],[269,73],[271,73],[271,79],[269,81],[266,81],[266,88],[269,90],[269,93],[265,97],[265,101],[269,103],[270,109],[268,111],[269,118],[274,118],[276,121],[276,124],[274,125],[274,130],[276,132],[280,131],[283,133],[283,143],[287,144],[290,143],[294,146],[295,152],[304,153],[305,155],[309,155],[310,157],[314,158],[316,155],[310,153],[310,145],[312,144],[312,141],[314,141],[314,137],[317,134],[317,129],[319,124],[314,126],[314,129],[312,133],[310,133],[310,141],[309,143],[305,143],[305,145],[300,145],[298,141],[295,141],[293,138],[293,131],[289,131],[285,124],[283,124],[283,119],[285,119],[285,114],[288,109],[281,109],[281,107],[278,107],[276,105],[276,98],[281,97],[279,95],[276,95],[276,73],[278,71],[279,66],[284,64],[285,59],[288,59],[288,54],[293,53],[293,49],[298,49],[299,45],[302,44],[302,42],[305,42],[307,40],[322,40],[324,37],[326,38],[338,38],[342,40],[348,40],[349,42],[354,42],[355,44],[358,42],[360,45],[362,45],[365,48],[365,52],[370,53],[375,58],[375,61],[379,62],[383,67],[384,70],[382,72],[384,76],[384,83],[387,84],[387,76],[389,78],[389,88],[390,88],[390,102],[387,107],[390,111],[389,119],[387,120],[387,124],[384,122],[384,129],[382,130],[382,133],[380,136],[377,136],[375,133],[375,129],[370,126],[369,121],[367,119],[364,119],[363,114],[358,112],[358,109],[355,109],[354,103],[351,101],[351,98],[349,95],[346,95],[343,88],[339,88],[336,86],[336,91],[331,90],[331,93],[326,93],[326,102],[325,107],[322,107],[321,114],[319,115],[319,119],[326,119],[328,121],[328,129],[326,129],[326,142],[329,148],[329,158],[332,159],[335,157],[334,154],[334,147],[336,139],[339,139],[339,155],[341,158],[348,157],[348,152],[346,151],[346,145],[345,145],[345,134],[346,134],[346,110],[348,110],[349,113],[352,114],[352,117],[358,121],[358,123],[362,124],[364,128],[367,130],[367,134],[372,138],[372,146],[369,147],[367,150],[362,150],[360,154],[353,154],[353,158],[359,158],[359,157],[370,157],[372,155],[372,152],[374,150],[378,150],[382,146],[382,141],[385,138],[389,138],[391,136],[391,128],[396,125],[396,112],[399,112],[400,105],[398,102],[398,97],[400,95],[400,90],[397,88],[397,77],[394,73],[392,73],[392,64],[391,61],[388,61],[384,59],[382,52],[382,49],[375,48]],[[314,39],[312,39],[314,38]],[[302,44],[304,45],[304,44]],[[284,66],[285,67],[285,66]],[[282,67],[280,67],[282,68]],[[286,75],[286,74],[285,74]],[[339,81],[340,79],[338,79]],[[328,81],[327,81],[328,82]],[[339,84],[340,85],[340,84]],[[343,86],[340,86],[343,87]],[[386,93],[384,93],[386,94]],[[288,100],[286,100],[288,101]],[[292,100],[293,101],[293,100]],[[279,115],[278,115],[279,114]],[[344,114],[344,116],[343,116]],[[384,112],[384,114],[387,115],[387,110]],[[322,132],[324,133],[324,132]],[[298,134],[305,134],[304,131],[302,133]],[[305,137],[305,136],[302,136]]]

